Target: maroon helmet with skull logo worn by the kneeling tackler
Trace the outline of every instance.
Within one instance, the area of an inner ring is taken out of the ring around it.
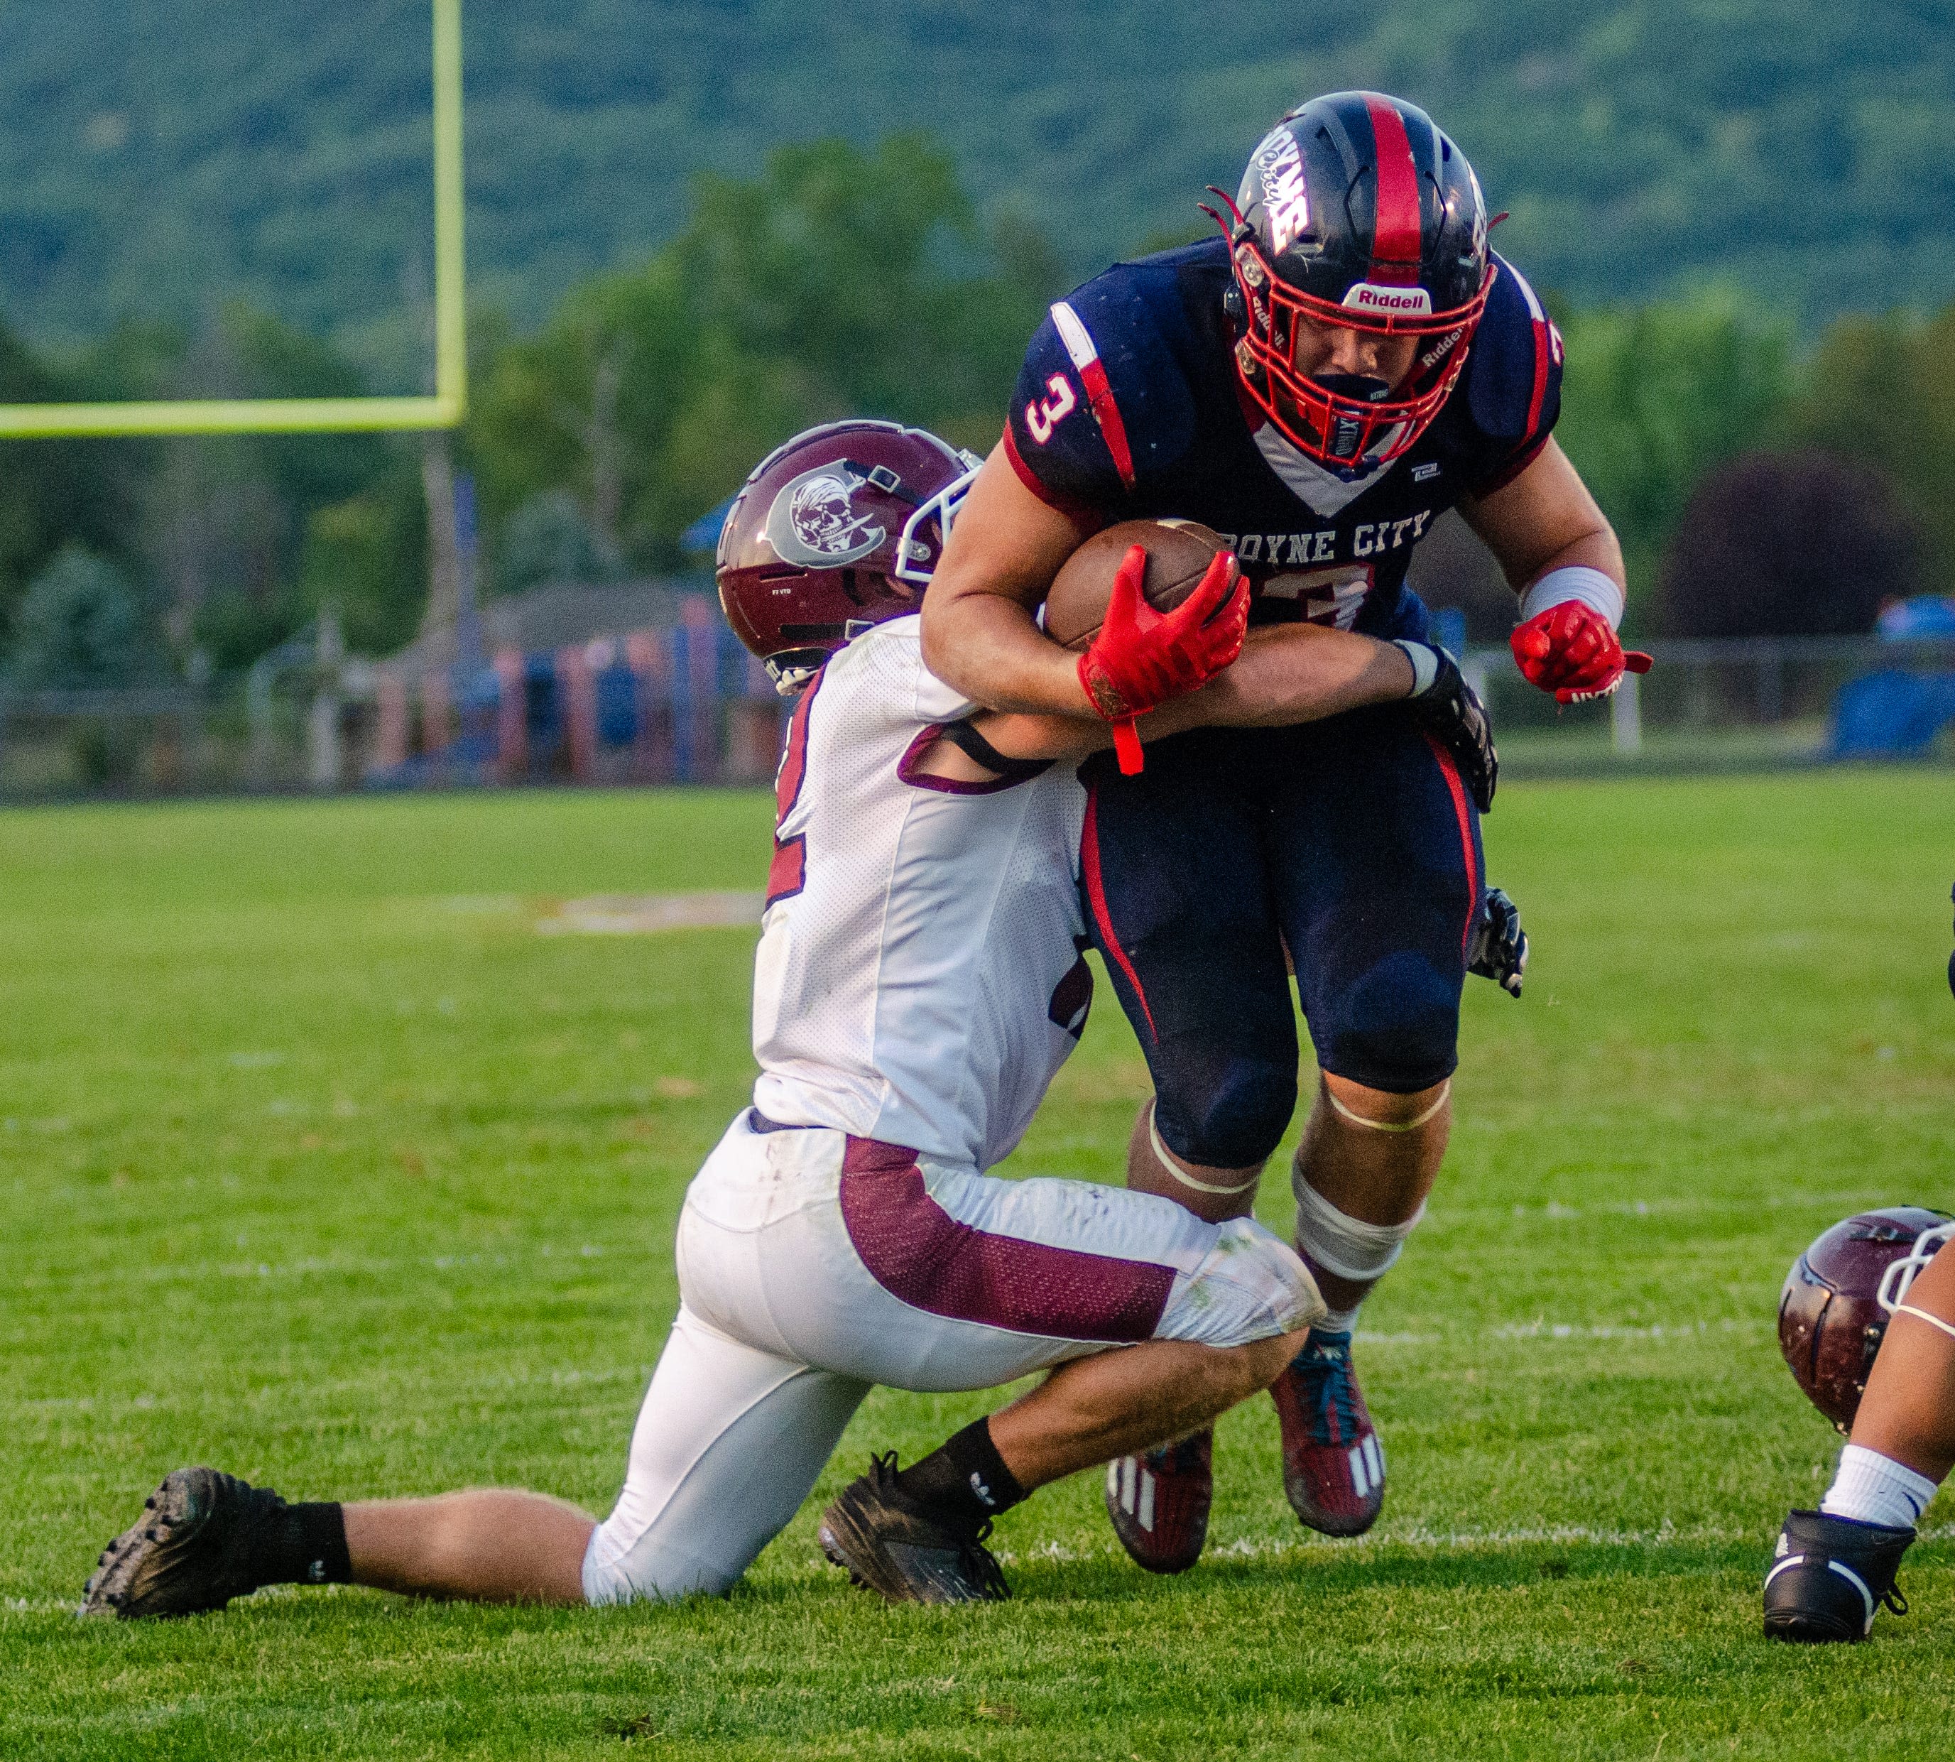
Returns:
[[[850,638],[917,610],[978,465],[923,428],[868,420],[809,428],[755,465],[714,575],[782,696]]]

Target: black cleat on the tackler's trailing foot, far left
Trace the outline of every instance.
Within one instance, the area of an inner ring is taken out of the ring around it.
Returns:
[[[217,1469],[162,1476],[143,1516],[115,1537],[82,1586],[82,1615],[196,1615],[250,1596],[260,1580],[246,1561],[285,1502]]]

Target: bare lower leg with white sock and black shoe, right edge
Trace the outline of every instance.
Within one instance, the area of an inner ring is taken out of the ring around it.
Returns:
[[[1955,1254],[1941,1250],[1889,1320],[1853,1437],[1816,1512],[1793,1512],[1765,1576],[1765,1637],[1857,1641],[1955,1467]]]

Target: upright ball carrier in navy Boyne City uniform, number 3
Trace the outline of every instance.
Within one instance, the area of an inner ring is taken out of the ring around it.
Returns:
[[[1220,532],[1253,624],[1419,638],[1406,567],[1456,507],[1521,596],[1513,651],[1535,684],[1574,702],[1646,667],[1615,634],[1615,534],[1552,440],[1560,336],[1488,248],[1458,147],[1412,104],[1337,92],[1282,117],[1234,201],[1216,194],[1224,237],[1116,264],[1032,336],[925,600],[927,665],[983,704],[1130,716],[1040,638],[1036,608],[1087,534],[1140,516]],[[1296,1107],[1294,962],[1322,1074],[1296,1240],[1331,1314],[1273,1392],[1298,1518],[1355,1535],[1384,1457],[1353,1322],[1445,1152],[1476,943],[1519,950],[1484,882],[1492,790],[1474,800],[1439,745],[1370,710],[1187,733],[1136,774],[1103,755],[1087,776],[1089,921],[1155,1089],[1130,1185],[1206,1218],[1249,1211]],[[1108,1473],[1140,1564],[1198,1557],[1208,1461],[1196,1433]]]

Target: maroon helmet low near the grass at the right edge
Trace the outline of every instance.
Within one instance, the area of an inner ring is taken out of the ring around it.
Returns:
[[[1834,1224],[1785,1275],[1779,1351],[1840,1432],[1853,1430],[1887,1318],[1914,1273],[1949,1240],[1947,1226],[1947,1212],[1918,1205],[1863,1211]]]

